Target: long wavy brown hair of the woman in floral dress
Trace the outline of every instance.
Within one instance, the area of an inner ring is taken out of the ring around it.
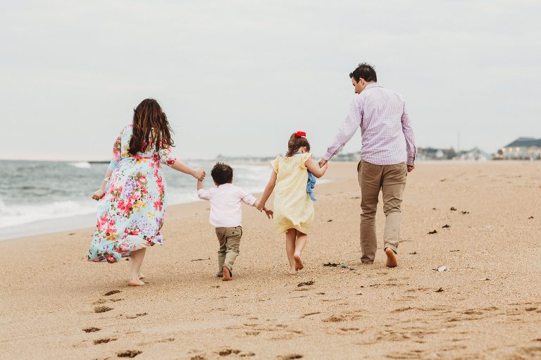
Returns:
[[[166,113],[154,99],[144,99],[133,109],[133,135],[130,139],[130,154],[147,151],[149,147],[166,149],[173,146],[171,127]]]

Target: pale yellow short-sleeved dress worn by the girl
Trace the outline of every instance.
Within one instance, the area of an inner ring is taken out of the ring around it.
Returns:
[[[306,192],[308,169],[304,165],[312,153],[277,156],[270,162],[276,173],[274,226],[278,234],[297,229],[308,234],[313,221],[313,202]]]

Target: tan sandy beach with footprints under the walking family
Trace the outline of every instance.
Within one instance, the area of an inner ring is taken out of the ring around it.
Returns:
[[[168,208],[143,287],[127,261],[85,261],[90,228],[0,242],[0,357],[541,358],[541,162],[418,163],[392,269],[383,249],[360,263],[356,164],[330,165],[294,276],[248,206],[227,283],[204,201]],[[380,206],[378,236],[383,221]]]

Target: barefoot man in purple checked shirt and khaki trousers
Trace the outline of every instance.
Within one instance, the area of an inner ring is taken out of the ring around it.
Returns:
[[[378,85],[372,66],[361,63],[349,77],[355,87],[355,98],[349,106],[349,115],[319,165],[323,166],[342,150],[361,128],[361,161],[357,166],[361,186],[361,262],[373,263],[378,248],[375,211],[382,190],[385,213],[383,249],[387,255],[386,265],[394,268],[398,263],[402,192],[407,173],[415,168],[415,137],[404,99]]]

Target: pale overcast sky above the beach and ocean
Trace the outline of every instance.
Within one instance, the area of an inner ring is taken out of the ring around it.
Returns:
[[[321,156],[365,61],[418,147],[541,137],[539,1],[0,1],[0,159],[109,159],[147,97],[180,159]]]

